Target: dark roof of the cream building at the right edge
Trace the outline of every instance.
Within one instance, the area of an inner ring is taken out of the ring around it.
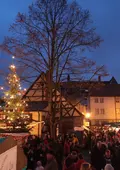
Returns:
[[[120,96],[120,84],[108,84],[99,89],[93,89],[90,96],[114,97]]]

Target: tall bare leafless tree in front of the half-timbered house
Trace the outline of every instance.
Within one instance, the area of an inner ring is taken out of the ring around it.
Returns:
[[[53,81],[57,90],[66,74],[81,79],[98,69],[95,62],[82,57],[85,49],[96,48],[101,42],[92,27],[90,13],[74,1],[36,0],[29,6],[28,14],[18,13],[10,32],[1,49],[18,58],[25,76],[25,72],[30,72],[27,80],[48,71],[49,112],[54,126]]]

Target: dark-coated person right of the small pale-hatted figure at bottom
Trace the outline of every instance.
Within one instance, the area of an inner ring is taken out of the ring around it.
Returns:
[[[58,170],[58,165],[55,159],[54,152],[52,150],[48,151],[46,157],[47,157],[47,163],[45,166],[45,170]]]

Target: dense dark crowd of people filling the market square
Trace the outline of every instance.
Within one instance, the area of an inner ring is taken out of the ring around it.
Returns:
[[[120,133],[113,131],[86,133],[83,143],[75,134],[56,140],[30,135],[23,149],[27,170],[120,170]],[[89,150],[89,161],[83,149]]]

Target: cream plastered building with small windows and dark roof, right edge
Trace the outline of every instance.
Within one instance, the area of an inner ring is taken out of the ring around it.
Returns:
[[[120,85],[108,84],[94,90],[89,98],[91,125],[120,122]]]

